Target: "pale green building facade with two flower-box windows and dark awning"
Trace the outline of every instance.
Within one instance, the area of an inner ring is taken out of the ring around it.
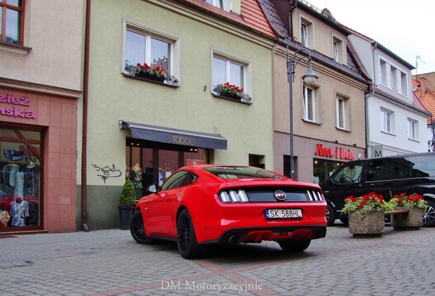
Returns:
[[[187,164],[273,169],[276,37],[256,1],[92,0],[90,19],[77,208],[91,230],[118,227],[126,177],[139,198]]]

